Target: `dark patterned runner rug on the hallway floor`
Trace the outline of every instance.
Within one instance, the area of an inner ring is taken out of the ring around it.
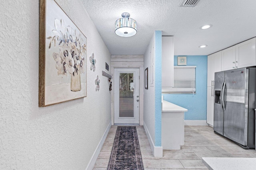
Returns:
[[[117,127],[108,170],[144,170],[136,127]]]

